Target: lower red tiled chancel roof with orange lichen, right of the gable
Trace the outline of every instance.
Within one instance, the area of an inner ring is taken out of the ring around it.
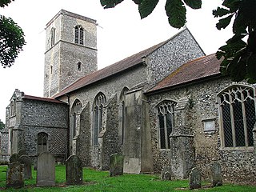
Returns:
[[[219,67],[221,62],[222,61],[215,57],[215,54],[210,54],[202,58],[186,62],[161,82],[158,82],[156,86],[148,90],[146,93],[179,86],[184,83],[194,82],[201,80],[202,78],[220,74]]]

